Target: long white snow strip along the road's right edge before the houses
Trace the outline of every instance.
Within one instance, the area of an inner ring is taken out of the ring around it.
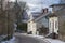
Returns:
[[[61,40],[44,38],[43,35],[32,35],[32,34],[29,34],[29,37],[40,38],[40,39],[43,39],[44,41],[48,41],[48,42],[51,42],[51,43],[65,43],[65,42],[63,42]]]

